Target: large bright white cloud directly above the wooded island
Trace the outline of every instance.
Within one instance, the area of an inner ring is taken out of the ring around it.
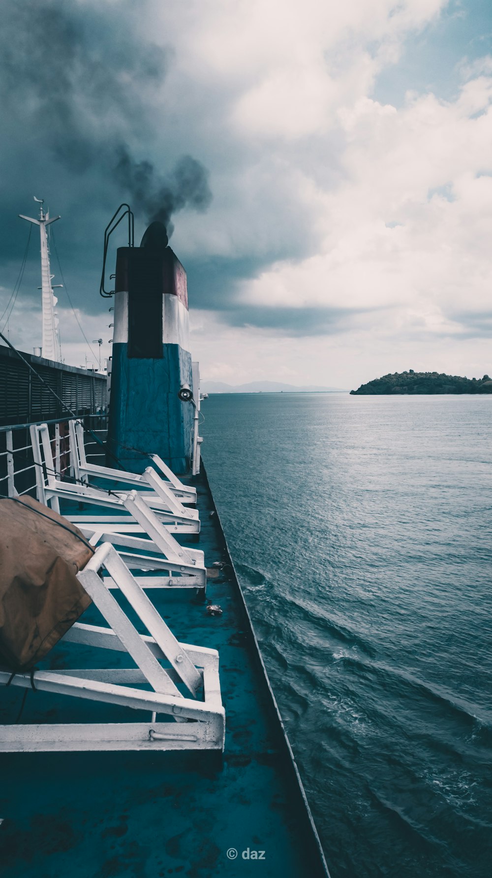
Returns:
[[[354,315],[374,307],[364,320],[379,331],[400,308],[413,314],[400,332],[467,335],[455,315],[490,310],[492,177],[479,174],[490,162],[491,97],[492,78],[481,76],[453,103],[425,95],[396,111],[361,97],[341,108],[346,177],[323,194],[321,252],[275,264],[244,284],[243,299]]]

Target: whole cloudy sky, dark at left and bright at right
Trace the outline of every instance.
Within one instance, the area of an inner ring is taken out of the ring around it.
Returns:
[[[489,0],[5,0],[0,329],[40,344],[45,198],[92,349],[103,229],[172,212],[203,378],[492,373]],[[123,234],[120,244],[124,244]],[[66,291],[66,362],[93,360]],[[9,301],[11,304],[9,305]],[[13,307],[12,307],[13,305]]]

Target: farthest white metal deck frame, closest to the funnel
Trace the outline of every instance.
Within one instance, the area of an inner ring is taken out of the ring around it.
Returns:
[[[166,479],[162,479],[153,467],[149,467],[144,473],[139,474],[138,472],[115,470],[110,466],[89,464],[85,453],[81,421],[68,421],[68,428],[70,431],[70,450],[75,478],[86,480],[89,483],[89,477],[96,476],[100,479],[110,479],[122,485],[132,486],[137,491],[140,487],[142,489],[150,487],[153,489],[153,493],[157,493],[162,499],[169,495],[174,495],[182,504],[196,503],[196,488],[183,485],[180,479],[175,476],[175,473],[169,469],[158,455],[152,454],[149,457]],[[152,484],[149,482],[148,475],[146,476],[148,472],[154,474]],[[162,491],[157,490],[157,485],[160,486]]]

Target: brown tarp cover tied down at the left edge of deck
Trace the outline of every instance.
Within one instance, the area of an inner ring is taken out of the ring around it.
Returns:
[[[46,656],[89,607],[75,576],[93,554],[82,541],[31,497],[0,500],[0,664],[12,672]]]

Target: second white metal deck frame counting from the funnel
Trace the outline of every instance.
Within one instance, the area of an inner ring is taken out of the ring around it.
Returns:
[[[40,503],[45,506],[51,506],[55,512],[60,512],[60,498],[64,500],[72,500],[79,502],[87,502],[99,507],[106,507],[115,510],[116,515],[106,523],[113,524],[118,531],[128,532],[125,524],[128,522],[128,515],[125,515],[125,497],[124,492],[111,492],[103,488],[91,487],[81,484],[69,484],[58,478],[53,462],[53,450],[51,447],[51,439],[47,424],[32,424],[30,427],[32,441],[32,456],[36,466],[36,493]],[[160,519],[165,528],[173,533],[181,534],[199,534],[200,520],[197,509],[189,509],[182,506],[177,498],[168,494],[168,488],[159,484],[160,479],[156,477],[152,467],[148,467],[144,473],[146,483],[151,486],[158,494],[157,497],[145,500],[146,505],[153,507],[153,511]],[[162,493],[165,495],[162,497]],[[170,507],[175,507],[172,509]],[[67,515],[69,521],[74,523],[87,522],[86,515]],[[89,521],[92,518],[89,517]],[[132,528],[131,531],[140,533],[139,528]]]

